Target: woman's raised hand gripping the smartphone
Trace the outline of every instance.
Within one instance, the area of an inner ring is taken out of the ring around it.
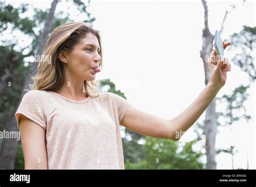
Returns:
[[[224,49],[231,43],[224,43]],[[220,60],[215,49],[213,50],[210,58],[207,61],[210,70],[210,81],[209,84],[215,87],[221,88],[226,83],[227,71],[231,71],[231,64],[227,58]]]

